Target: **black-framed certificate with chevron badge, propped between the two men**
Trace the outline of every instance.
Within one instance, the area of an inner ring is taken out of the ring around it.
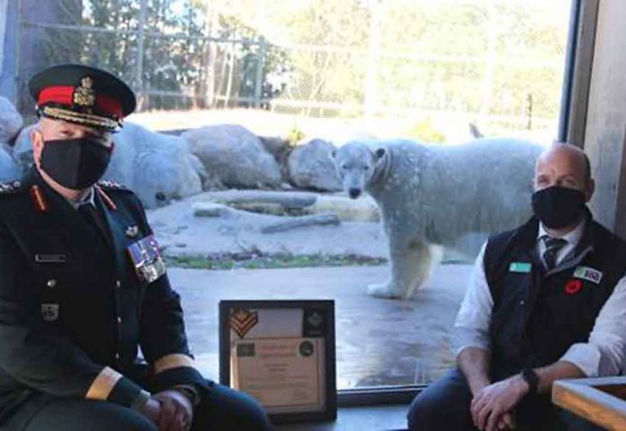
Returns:
[[[274,423],[335,419],[335,302],[220,301],[219,382]]]

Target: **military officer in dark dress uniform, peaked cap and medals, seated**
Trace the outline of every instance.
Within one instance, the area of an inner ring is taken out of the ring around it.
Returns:
[[[0,427],[271,429],[255,400],[193,367],[141,203],[99,181],[135,109],[128,85],[61,65],[30,90],[34,166],[0,184]]]

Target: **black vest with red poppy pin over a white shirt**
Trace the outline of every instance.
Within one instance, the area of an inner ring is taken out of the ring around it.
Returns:
[[[595,318],[626,273],[626,243],[588,214],[573,254],[546,272],[537,256],[539,222],[489,238],[485,274],[494,300],[492,377],[552,364],[586,343]]]

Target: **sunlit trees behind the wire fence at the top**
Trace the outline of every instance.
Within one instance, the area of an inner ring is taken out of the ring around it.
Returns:
[[[47,61],[158,92],[144,109],[233,106],[261,77],[273,109],[307,116],[454,112],[522,130],[559,113],[571,0],[144,0],[145,15],[140,0],[57,1],[59,22],[124,32],[47,30]]]

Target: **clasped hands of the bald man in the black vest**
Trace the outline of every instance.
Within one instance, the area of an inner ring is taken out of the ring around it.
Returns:
[[[514,428],[511,410],[528,392],[520,375],[485,387],[471,401],[471,417],[478,429],[497,431]]]

